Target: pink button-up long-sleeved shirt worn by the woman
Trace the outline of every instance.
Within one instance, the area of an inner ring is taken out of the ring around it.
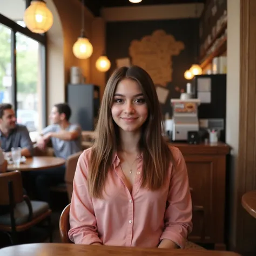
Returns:
[[[170,163],[166,183],[157,191],[140,187],[140,156],[130,193],[116,154],[106,179],[104,199],[91,198],[88,193],[91,149],[85,150],[73,181],[69,238],[76,244],[140,247],[157,247],[162,239],[169,239],[184,248],[192,229],[191,195],[185,160],[176,147],[170,149],[176,168]]]

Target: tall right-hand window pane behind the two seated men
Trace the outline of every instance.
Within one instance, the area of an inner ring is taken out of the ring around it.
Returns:
[[[38,115],[42,112],[41,47],[37,41],[16,33],[17,123],[26,125],[29,131],[42,129],[42,115]]]

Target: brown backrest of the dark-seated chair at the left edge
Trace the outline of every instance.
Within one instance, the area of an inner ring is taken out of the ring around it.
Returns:
[[[9,189],[11,188],[11,191]],[[15,204],[21,203],[23,199],[21,172],[0,173],[0,205],[10,204],[10,195],[13,196]]]

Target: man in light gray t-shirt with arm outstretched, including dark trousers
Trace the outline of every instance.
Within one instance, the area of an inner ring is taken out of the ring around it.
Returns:
[[[37,146],[45,149],[46,144],[51,140],[55,156],[64,159],[79,152],[81,150],[81,129],[79,125],[69,123],[70,116],[71,109],[68,104],[54,105],[50,114],[52,124],[43,129],[41,136],[37,139]],[[33,172],[32,175],[36,176],[38,199],[50,203],[49,186],[64,182],[65,165]]]

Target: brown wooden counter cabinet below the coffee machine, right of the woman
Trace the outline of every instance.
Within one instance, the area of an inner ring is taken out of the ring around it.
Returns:
[[[214,244],[225,250],[226,144],[172,144],[183,153],[193,200],[193,231],[190,241]]]

